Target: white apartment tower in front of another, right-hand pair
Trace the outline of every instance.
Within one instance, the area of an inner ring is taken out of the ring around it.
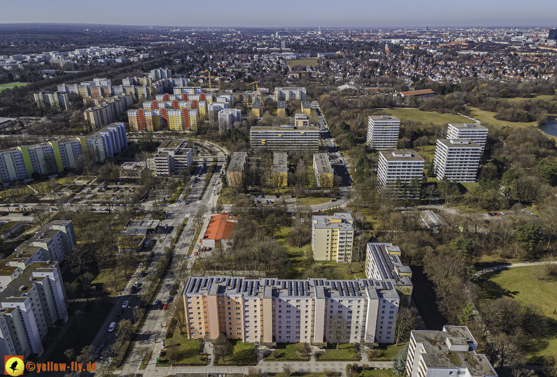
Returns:
[[[454,182],[475,182],[482,147],[468,139],[437,139],[435,174]]]

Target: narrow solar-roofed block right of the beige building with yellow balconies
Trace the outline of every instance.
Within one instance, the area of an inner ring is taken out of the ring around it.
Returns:
[[[400,304],[409,306],[412,300],[412,270],[400,261],[400,248],[392,243],[368,243],[365,255],[365,277],[394,281]]]

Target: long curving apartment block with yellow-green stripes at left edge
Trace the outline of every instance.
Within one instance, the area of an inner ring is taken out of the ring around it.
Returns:
[[[128,147],[124,123],[113,123],[89,136],[65,137],[0,151],[0,180],[13,182],[73,170],[80,158],[104,162]]]

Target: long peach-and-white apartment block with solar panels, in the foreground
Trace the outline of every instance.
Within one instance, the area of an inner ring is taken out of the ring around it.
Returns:
[[[326,342],[346,321],[346,342],[393,343],[399,297],[393,281],[190,277],[183,292],[189,339]]]

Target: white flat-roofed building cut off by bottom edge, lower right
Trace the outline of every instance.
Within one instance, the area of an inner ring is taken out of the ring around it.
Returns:
[[[464,375],[497,377],[486,355],[466,326],[443,326],[443,331],[411,332],[406,358],[407,377]]]

